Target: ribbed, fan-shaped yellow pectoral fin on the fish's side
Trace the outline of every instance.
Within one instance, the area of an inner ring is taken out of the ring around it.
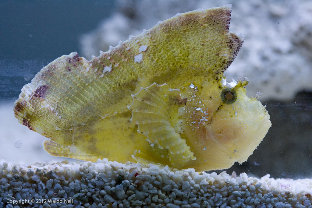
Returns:
[[[150,144],[168,150],[169,161],[173,167],[183,167],[189,160],[195,160],[193,152],[180,134],[181,119],[179,108],[186,104],[179,89],[170,89],[167,84],[156,83],[141,88],[133,95],[128,108],[132,111],[131,120],[138,125],[138,132],[148,137]]]

